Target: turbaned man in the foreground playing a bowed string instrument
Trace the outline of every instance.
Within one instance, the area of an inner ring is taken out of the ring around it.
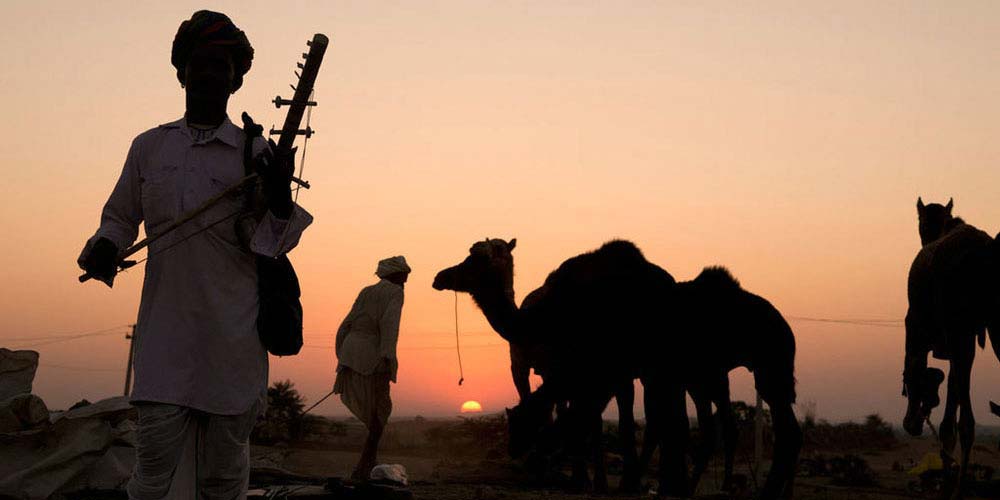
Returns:
[[[201,205],[243,177],[244,133],[226,114],[253,48],[223,14],[181,23],[171,63],[186,93],[184,117],[140,134],[79,263],[112,285],[118,255],[136,239]],[[248,439],[263,409],[267,353],[256,328],[254,254],[292,249],[311,217],[291,201],[289,155],[253,144],[266,212],[252,235],[234,221],[250,210],[225,199],[148,248],[135,345],[138,409],[130,498],[242,498]],[[228,220],[227,220],[228,219]],[[222,222],[222,223],[220,223]]]

